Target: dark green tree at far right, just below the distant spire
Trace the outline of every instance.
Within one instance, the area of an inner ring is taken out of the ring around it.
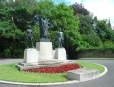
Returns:
[[[99,36],[104,46],[114,43],[114,31],[111,29],[110,20],[98,20],[97,17],[93,19],[95,24],[94,30]],[[109,45],[108,45],[109,46]],[[113,46],[113,45],[110,45]]]

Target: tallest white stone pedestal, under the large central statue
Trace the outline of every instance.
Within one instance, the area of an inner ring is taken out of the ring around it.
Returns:
[[[40,60],[51,60],[53,56],[52,42],[37,42],[36,49],[39,51]]]

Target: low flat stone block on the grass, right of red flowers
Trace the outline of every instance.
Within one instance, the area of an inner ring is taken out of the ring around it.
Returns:
[[[87,81],[99,76],[99,71],[90,68],[80,68],[67,72],[67,78],[70,80]]]

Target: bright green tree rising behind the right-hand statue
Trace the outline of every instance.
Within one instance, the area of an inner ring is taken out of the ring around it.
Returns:
[[[76,49],[80,45],[80,34],[78,32],[79,20],[73,14],[73,9],[60,3],[52,10],[54,20],[54,30],[62,29],[64,33],[64,47],[67,50],[69,58],[76,58]]]

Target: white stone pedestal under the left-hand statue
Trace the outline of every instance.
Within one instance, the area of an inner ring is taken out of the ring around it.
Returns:
[[[35,48],[28,48],[24,51],[24,63],[38,63],[39,52]]]

